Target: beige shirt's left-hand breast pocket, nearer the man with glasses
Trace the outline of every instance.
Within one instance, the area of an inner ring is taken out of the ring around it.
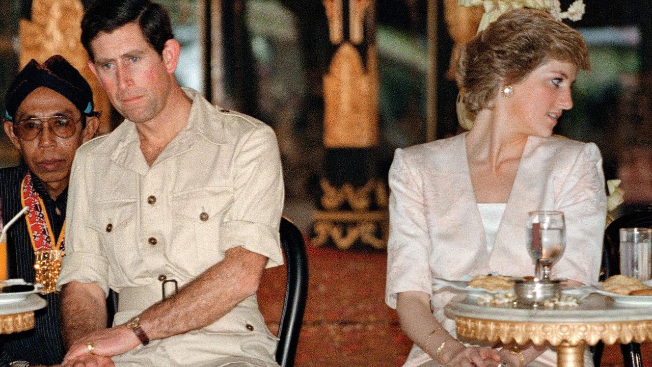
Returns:
[[[112,273],[118,281],[126,279],[129,272],[125,270],[132,264],[134,251],[138,251],[134,243],[138,238],[135,215],[135,199],[106,200],[91,205],[86,220],[87,227],[98,232]]]

